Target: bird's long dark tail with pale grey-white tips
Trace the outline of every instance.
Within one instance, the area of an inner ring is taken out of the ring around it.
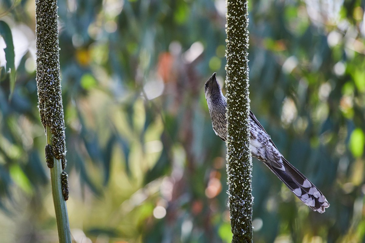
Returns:
[[[284,157],[282,159],[285,170],[275,168],[267,162],[265,164],[304,204],[308,205],[313,211],[324,213],[326,208],[330,206],[326,197]]]

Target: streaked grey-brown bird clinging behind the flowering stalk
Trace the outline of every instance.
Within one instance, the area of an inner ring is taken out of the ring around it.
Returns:
[[[205,82],[205,99],[212,119],[213,130],[223,141],[227,139],[227,99],[216,79],[216,72]],[[250,111],[251,154],[266,166],[313,211],[324,213],[330,206],[326,197],[279,152],[264,127]]]

